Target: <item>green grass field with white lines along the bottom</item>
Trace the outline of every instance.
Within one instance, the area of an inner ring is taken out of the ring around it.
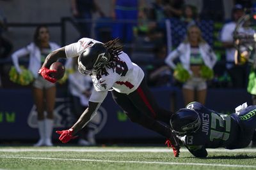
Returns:
[[[256,169],[256,148],[211,149],[197,159],[185,148],[174,158],[165,147],[0,146],[0,169]]]

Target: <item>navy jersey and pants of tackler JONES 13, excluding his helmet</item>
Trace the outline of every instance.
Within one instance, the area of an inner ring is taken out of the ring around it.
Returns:
[[[225,115],[209,110],[198,102],[186,108],[195,110],[201,118],[200,128],[186,136],[177,136],[196,157],[206,157],[205,148],[244,148],[252,140],[256,128],[256,106]]]

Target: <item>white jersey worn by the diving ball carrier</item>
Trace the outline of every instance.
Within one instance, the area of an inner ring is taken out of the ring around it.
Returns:
[[[77,43],[65,46],[67,57],[80,55],[84,48],[90,46],[91,42],[101,43],[94,39],[82,38]],[[106,68],[106,72],[92,75],[94,90],[90,101],[102,103],[109,89],[129,94],[139,87],[144,78],[143,70],[137,64],[131,62],[131,59],[126,53],[122,52],[118,57],[120,60],[116,62],[115,68]]]

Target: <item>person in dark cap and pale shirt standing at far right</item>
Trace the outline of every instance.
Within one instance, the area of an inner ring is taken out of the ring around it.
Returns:
[[[221,30],[221,42],[226,48],[226,67],[228,74],[232,80],[232,87],[245,88],[247,80],[247,65],[235,65],[234,56],[236,49],[234,48],[233,33],[236,28],[236,22],[244,15],[244,9],[241,4],[236,4],[232,9],[232,21],[223,25]]]

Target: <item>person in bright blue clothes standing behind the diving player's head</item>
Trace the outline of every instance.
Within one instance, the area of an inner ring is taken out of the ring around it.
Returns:
[[[112,0],[112,38],[120,38],[123,43],[131,43],[133,27],[138,18],[143,18],[144,0]]]

